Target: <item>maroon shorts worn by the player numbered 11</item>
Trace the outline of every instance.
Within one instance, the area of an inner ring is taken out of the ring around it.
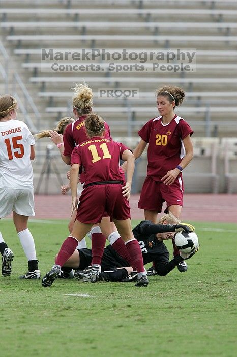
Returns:
[[[82,190],[76,219],[82,223],[100,223],[109,216],[123,221],[130,218],[130,206],[122,194],[123,185],[92,185]],[[105,215],[107,213],[107,215]]]

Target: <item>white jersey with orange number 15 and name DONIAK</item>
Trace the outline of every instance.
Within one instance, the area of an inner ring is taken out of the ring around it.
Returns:
[[[35,139],[23,121],[0,122],[0,188],[33,187],[30,155],[34,144]]]

